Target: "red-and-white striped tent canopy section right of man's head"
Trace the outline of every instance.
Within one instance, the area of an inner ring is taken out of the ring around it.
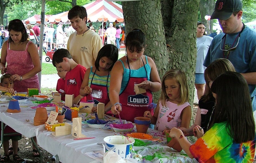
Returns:
[[[122,5],[106,0],[96,0],[83,7],[87,11],[88,22],[124,22]]]

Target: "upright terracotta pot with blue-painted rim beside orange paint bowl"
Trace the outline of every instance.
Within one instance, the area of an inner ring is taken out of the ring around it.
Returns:
[[[136,125],[136,130],[138,133],[146,134],[148,131],[148,127],[151,123],[151,119],[148,117],[135,117],[134,123]]]

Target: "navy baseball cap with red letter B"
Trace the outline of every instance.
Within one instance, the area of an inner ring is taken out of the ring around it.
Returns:
[[[240,11],[242,8],[241,0],[218,0],[211,19],[227,20],[233,12]]]

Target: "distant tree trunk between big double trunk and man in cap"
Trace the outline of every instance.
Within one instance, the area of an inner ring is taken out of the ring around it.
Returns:
[[[207,32],[207,34],[211,34],[213,32],[213,21],[210,20],[207,22],[207,20],[204,19],[205,15],[212,15],[213,11],[214,11],[214,7],[215,7],[215,1],[214,0],[200,0],[199,3],[199,11],[201,14],[201,19],[202,19],[202,23],[204,23],[206,29],[205,31]],[[210,27],[209,27],[210,25]],[[210,28],[210,29],[209,29]],[[220,29],[219,29],[220,30]]]

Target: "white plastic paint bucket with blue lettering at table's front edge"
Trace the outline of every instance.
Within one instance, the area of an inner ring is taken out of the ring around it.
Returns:
[[[132,154],[132,147],[135,142],[134,138],[127,136],[114,135],[107,136],[104,139],[104,152],[112,150],[119,154],[122,158],[130,157]]]

